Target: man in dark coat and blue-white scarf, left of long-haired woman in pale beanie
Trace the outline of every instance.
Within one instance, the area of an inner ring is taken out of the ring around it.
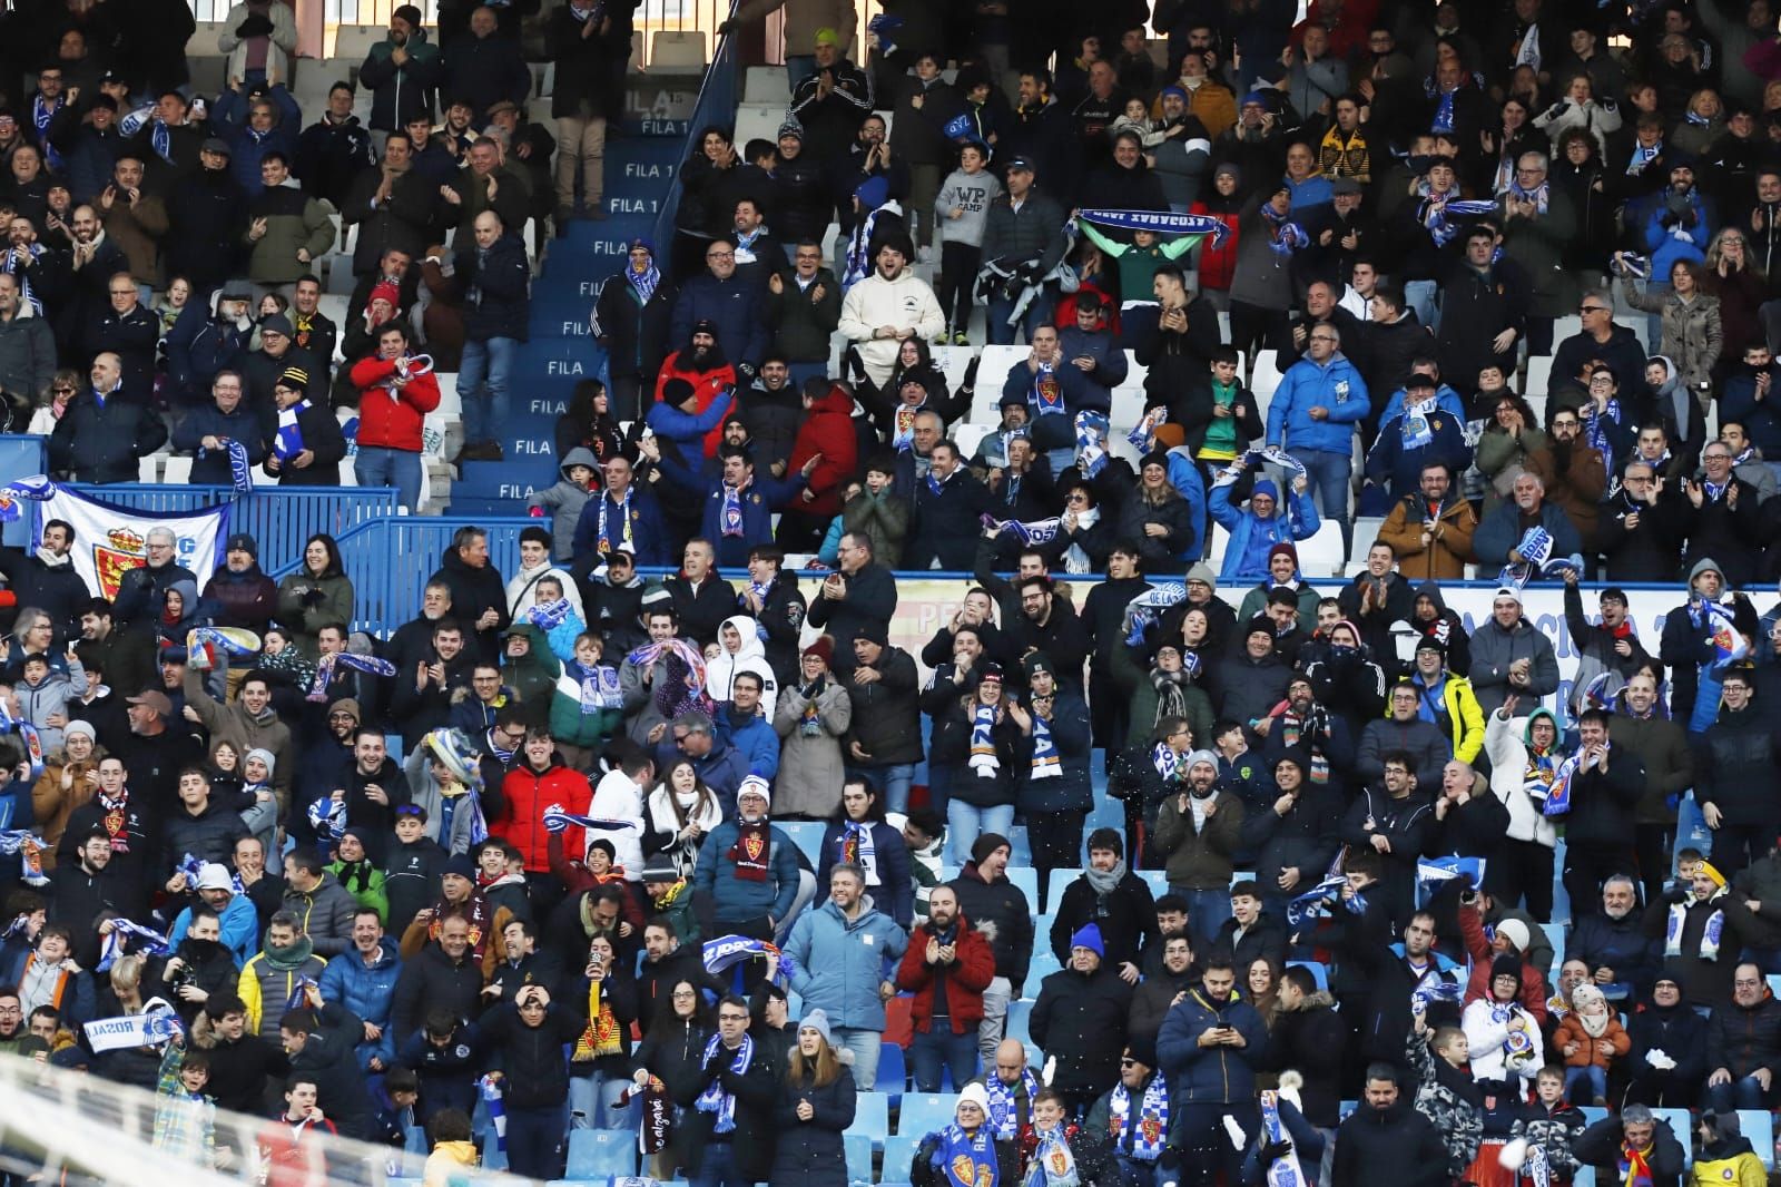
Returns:
[[[757,1053],[748,1036],[748,1002],[725,995],[718,1002],[718,1034],[705,1043],[696,1073],[675,1101],[687,1110],[687,1150],[700,1151],[698,1166],[687,1167],[700,1187],[753,1187],[766,1180],[778,1093],[775,1062]]]

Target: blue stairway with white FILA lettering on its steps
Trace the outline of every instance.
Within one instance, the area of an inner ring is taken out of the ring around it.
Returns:
[[[663,128],[670,135],[648,135]],[[522,344],[509,385],[509,415],[499,437],[504,460],[463,462],[451,488],[449,515],[525,515],[525,499],[556,483],[556,419],[575,383],[598,374],[604,353],[588,314],[607,276],[625,264],[629,242],[650,235],[668,182],[680,164],[680,121],[627,121],[606,143],[604,223],[572,223],[550,242],[533,280],[531,340]],[[666,253],[668,244],[655,244]]]

